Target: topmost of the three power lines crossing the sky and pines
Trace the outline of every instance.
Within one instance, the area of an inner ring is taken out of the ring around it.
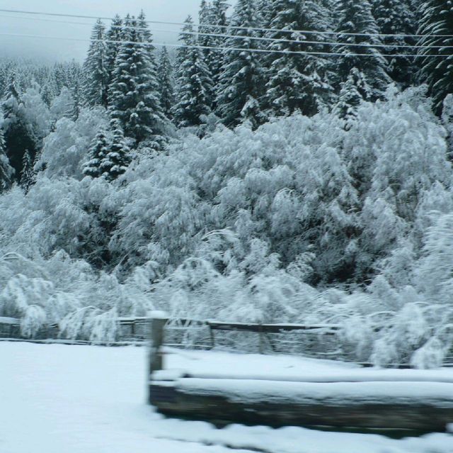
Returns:
[[[103,16],[86,16],[81,14],[63,14],[63,13],[42,13],[40,11],[25,11],[18,9],[0,9],[2,13],[20,13],[20,14],[30,14],[34,16],[53,16],[53,17],[71,17],[71,18],[84,18],[84,19],[102,19],[105,21],[113,21],[111,17]],[[186,25],[183,22],[166,22],[166,21],[144,21],[146,23],[156,23],[160,25],[173,25],[173,26],[184,26]],[[256,30],[256,31],[271,31],[271,32],[282,32],[282,33],[304,33],[306,35],[344,35],[344,36],[377,36],[377,37],[394,37],[394,38],[423,38],[423,37],[436,37],[436,38],[453,38],[453,35],[436,35],[436,34],[405,34],[405,33],[343,33],[338,31],[324,31],[324,30],[285,30],[277,28],[260,28],[260,27],[241,27],[241,26],[231,26],[231,25],[218,25],[218,24],[208,24],[208,23],[194,23],[196,27],[207,27],[207,28],[226,28],[231,30]]]

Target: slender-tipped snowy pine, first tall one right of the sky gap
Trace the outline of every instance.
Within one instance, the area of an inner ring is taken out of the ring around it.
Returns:
[[[179,127],[188,127],[200,125],[201,116],[211,113],[213,86],[205,56],[201,49],[195,47],[197,38],[190,16],[185,19],[180,42],[188,47],[181,47],[178,52],[174,118]]]

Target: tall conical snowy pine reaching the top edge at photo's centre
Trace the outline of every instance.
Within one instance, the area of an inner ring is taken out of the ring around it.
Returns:
[[[259,101],[263,96],[263,67],[256,52],[248,51],[258,47],[256,40],[248,39],[258,36],[253,28],[260,26],[254,0],[236,3],[230,26],[228,34],[234,37],[226,40],[226,47],[244,50],[224,51],[217,115],[229,127],[248,121],[256,128],[265,121],[265,116]]]

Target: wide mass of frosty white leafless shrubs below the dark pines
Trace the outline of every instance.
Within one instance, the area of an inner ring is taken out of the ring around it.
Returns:
[[[105,341],[116,316],[151,308],[335,323],[355,359],[439,364],[453,324],[447,134],[423,91],[387,98],[348,127],[323,112],[187,133],[114,181],[81,173],[103,111],[63,116],[36,183],[0,196],[0,315],[28,336],[60,323]]]

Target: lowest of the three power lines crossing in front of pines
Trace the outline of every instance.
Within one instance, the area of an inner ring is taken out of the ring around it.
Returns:
[[[24,33],[0,33],[0,36],[16,36],[21,38],[37,38],[37,39],[50,39],[50,40],[66,40],[66,41],[77,41],[85,43],[111,43],[111,44],[132,44],[139,47],[185,47],[189,49],[202,49],[202,50],[225,50],[227,52],[251,52],[251,53],[268,53],[268,54],[282,54],[282,55],[323,55],[323,56],[334,56],[334,57],[392,57],[392,58],[408,58],[408,57],[436,57],[436,58],[447,58],[453,57],[453,54],[448,55],[409,55],[409,54],[372,54],[372,53],[343,53],[343,52],[311,52],[304,50],[267,50],[267,49],[248,49],[244,47],[216,47],[208,45],[185,45],[185,44],[168,44],[168,43],[139,43],[137,41],[127,41],[127,40],[99,40],[99,39],[86,39],[86,38],[68,38],[62,36],[45,36],[45,35],[28,35]],[[371,49],[374,48],[373,45],[369,45]]]

